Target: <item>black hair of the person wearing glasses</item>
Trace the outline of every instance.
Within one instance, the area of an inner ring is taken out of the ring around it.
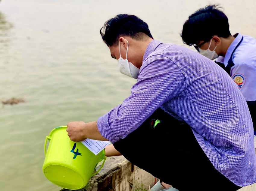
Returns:
[[[209,41],[212,36],[227,38],[231,35],[227,16],[219,5],[208,5],[189,16],[180,36],[183,43],[191,46],[199,41]]]

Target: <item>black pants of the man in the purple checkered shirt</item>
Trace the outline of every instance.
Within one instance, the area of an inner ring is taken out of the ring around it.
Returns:
[[[160,120],[155,127],[155,121]],[[179,191],[235,191],[195,139],[191,127],[157,109],[138,129],[115,142],[127,160]]]

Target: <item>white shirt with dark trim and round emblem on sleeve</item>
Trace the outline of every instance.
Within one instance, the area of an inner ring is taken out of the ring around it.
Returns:
[[[231,67],[230,76],[247,101],[256,100],[256,39],[237,34],[227,49],[225,57],[216,62]]]

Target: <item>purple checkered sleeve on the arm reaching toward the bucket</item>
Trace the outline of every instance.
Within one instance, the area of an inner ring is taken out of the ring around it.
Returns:
[[[186,88],[180,68],[163,55],[147,58],[140,69],[138,81],[122,104],[97,120],[101,135],[117,142],[136,130],[156,109]]]

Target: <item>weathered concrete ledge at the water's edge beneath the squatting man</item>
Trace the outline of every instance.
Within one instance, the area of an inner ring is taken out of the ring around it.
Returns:
[[[96,170],[98,168],[99,166]],[[155,181],[156,178],[150,173],[133,165],[123,156],[117,156],[106,160],[102,169],[89,180],[86,187],[72,191],[132,191],[142,186],[149,191]],[[256,191],[256,184],[243,187],[238,191]]]

